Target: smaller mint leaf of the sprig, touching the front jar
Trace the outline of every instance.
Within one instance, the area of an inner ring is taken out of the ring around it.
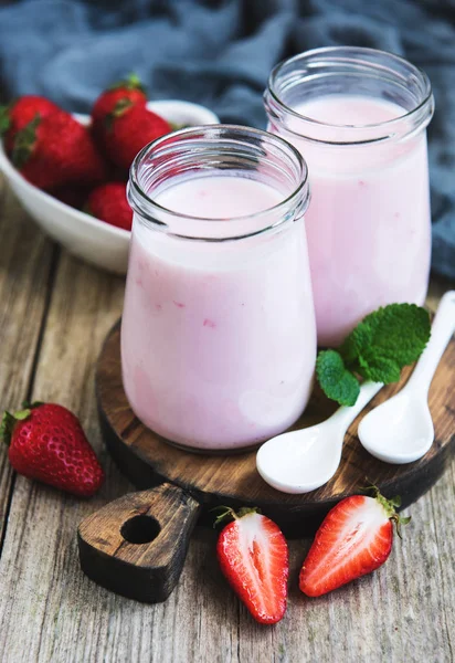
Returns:
[[[360,385],[337,350],[322,350],[316,360],[316,375],[325,394],[340,406],[353,406]]]

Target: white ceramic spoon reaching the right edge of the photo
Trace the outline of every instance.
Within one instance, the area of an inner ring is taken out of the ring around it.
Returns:
[[[434,441],[428,389],[441,357],[455,330],[455,291],[437,308],[428,345],[403,389],[362,419],[358,435],[373,456],[385,463],[412,463]]]

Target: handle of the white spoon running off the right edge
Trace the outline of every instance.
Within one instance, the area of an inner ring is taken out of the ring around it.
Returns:
[[[412,385],[413,388],[417,388],[425,393],[428,391],[434,372],[454,330],[455,291],[448,291],[440,302],[428,344],[422,352],[408,385]]]

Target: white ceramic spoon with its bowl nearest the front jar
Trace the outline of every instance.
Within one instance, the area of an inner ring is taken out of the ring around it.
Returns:
[[[322,423],[265,442],[256,455],[257,472],[283,493],[309,493],[319,488],[338,470],[350,423],[382,387],[381,382],[366,382],[355,406],[339,408]]]

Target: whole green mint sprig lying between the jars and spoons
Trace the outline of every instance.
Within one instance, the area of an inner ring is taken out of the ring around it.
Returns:
[[[316,375],[322,391],[341,406],[353,406],[359,377],[398,382],[401,369],[419,359],[431,334],[427,312],[415,304],[390,304],[370,313],[336,350],[321,350]]]

